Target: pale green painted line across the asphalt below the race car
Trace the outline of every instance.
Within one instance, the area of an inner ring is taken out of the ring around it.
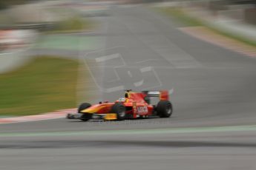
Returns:
[[[170,129],[140,129],[140,130],[100,130],[79,132],[23,132],[0,133],[0,137],[42,137],[42,136],[76,136],[76,135],[151,135],[151,134],[183,134],[209,132],[252,132],[256,125],[249,126],[211,126]]]

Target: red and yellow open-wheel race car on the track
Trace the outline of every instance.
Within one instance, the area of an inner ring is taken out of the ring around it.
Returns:
[[[159,98],[157,104],[151,104],[151,98]],[[142,91],[131,92],[125,90],[124,98],[113,103],[108,101],[91,105],[82,103],[77,113],[69,113],[66,118],[88,121],[91,119],[125,120],[135,118],[148,118],[157,115],[160,118],[169,118],[173,107],[169,101],[168,91]]]

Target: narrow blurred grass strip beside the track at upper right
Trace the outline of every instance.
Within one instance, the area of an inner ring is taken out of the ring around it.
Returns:
[[[229,38],[233,38],[237,41],[240,41],[240,42],[243,42],[250,46],[256,47],[255,41],[251,41],[247,38],[243,38],[243,36],[229,33],[224,30],[220,30],[216,27],[212,27],[211,25],[209,25],[203,21],[200,21],[200,19],[198,19],[198,18],[188,16],[188,14],[186,12],[184,12],[180,7],[157,7],[157,10],[160,11],[160,13],[165,14],[166,16],[170,16],[170,17],[174,18],[175,21],[180,22],[181,24],[183,24],[184,27],[194,27],[194,26],[207,27],[210,30],[213,30],[215,33],[224,35]]]

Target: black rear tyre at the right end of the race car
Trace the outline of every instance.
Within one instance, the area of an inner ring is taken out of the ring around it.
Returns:
[[[170,101],[160,101],[157,103],[157,115],[160,118],[169,118],[172,114],[172,104]]]

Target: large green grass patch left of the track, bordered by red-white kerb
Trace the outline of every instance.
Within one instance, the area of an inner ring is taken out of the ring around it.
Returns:
[[[36,115],[76,107],[78,61],[37,57],[0,75],[0,115]]]

